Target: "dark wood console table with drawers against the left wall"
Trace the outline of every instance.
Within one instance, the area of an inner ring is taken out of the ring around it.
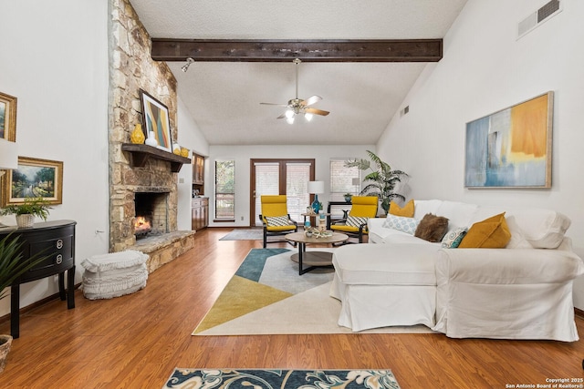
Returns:
[[[0,239],[10,232],[20,237],[23,244],[23,258],[36,253],[48,256],[33,269],[22,275],[11,287],[10,334],[19,336],[20,284],[40,280],[58,274],[58,292],[62,301],[67,300],[68,309],[75,308],[75,225],[73,220],[55,220],[36,223],[29,229],[5,228],[0,230]],[[67,292],[65,272],[67,271]]]

